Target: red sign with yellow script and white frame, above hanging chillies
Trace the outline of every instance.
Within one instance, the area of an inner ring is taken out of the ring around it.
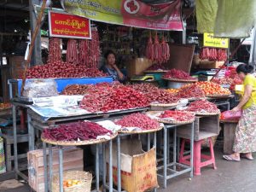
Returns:
[[[90,39],[90,20],[77,15],[49,11],[49,36]]]

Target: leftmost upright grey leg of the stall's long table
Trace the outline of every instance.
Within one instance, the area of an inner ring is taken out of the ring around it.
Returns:
[[[17,149],[17,122],[16,107],[13,105],[13,131],[14,131],[14,156],[15,156],[15,178],[18,179],[18,149]]]

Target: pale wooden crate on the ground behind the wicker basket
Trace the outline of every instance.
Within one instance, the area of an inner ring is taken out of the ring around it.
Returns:
[[[48,155],[47,155],[48,158]],[[27,153],[29,185],[37,192],[44,192],[44,155],[43,149]],[[84,170],[83,149],[63,149],[63,171]],[[57,148],[53,148],[53,175],[59,172],[59,155]],[[49,177],[49,176],[48,176]]]

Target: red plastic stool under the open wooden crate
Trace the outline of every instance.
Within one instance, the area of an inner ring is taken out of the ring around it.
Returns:
[[[215,157],[214,157],[214,150],[213,150],[213,144],[212,144],[212,138],[207,138],[209,145],[210,145],[210,151],[211,155],[201,154],[201,143],[204,142],[204,139],[200,141],[194,141],[194,175],[201,175],[201,167],[203,166],[209,166],[213,165],[214,169],[217,169],[215,165]],[[183,155],[184,154],[184,148],[185,143],[190,143],[190,140],[183,139],[181,143],[181,150],[179,154],[179,163],[190,166],[190,154],[189,155]],[[204,160],[204,161],[201,161]]]

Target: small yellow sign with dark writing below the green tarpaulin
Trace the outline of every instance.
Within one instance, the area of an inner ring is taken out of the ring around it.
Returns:
[[[213,33],[204,33],[204,46],[216,48],[229,48],[229,38],[214,38]]]

